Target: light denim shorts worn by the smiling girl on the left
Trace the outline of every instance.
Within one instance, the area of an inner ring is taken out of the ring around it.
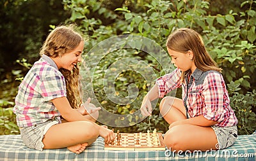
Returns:
[[[44,143],[42,140],[45,133],[52,125],[56,125],[58,123],[58,118],[53,118],[52,120],[47,120],[47,122],[38,123],[31,127],[21,127],[21,139],[23,143],[28,146],[28,148],[42,151],[44,148]]]

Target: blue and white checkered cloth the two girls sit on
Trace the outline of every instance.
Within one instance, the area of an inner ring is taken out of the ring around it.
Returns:
[[[238,136],[236,143],[225,150],[207,153],[172,153],[166,151],[109,151],[104,150],[104,139],[99,137],[95,143],[76,155],[67,148],[57,150],[31,150],[27,148],[19,135],[0,136],[0,161],[36,161],[36,160],[180,160],[180,161],[255,161],[256,134]]]

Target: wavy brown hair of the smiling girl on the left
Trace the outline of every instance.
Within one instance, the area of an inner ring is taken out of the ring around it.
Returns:
[[[40,50],[40,55],[45,54],[48,57],[59,57],[74,50],[81,41],[84,41],[83,34],[77,30],[75,24],[60,25],[47,36]],[[79,108],[82,102],[78,86],[79,67],[76,65],[72,71],[63,68],[59,70],[65,78],[68,102],[72,108]]]

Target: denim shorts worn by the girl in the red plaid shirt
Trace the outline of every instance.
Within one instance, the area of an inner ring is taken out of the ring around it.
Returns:
[[[237,127],[236,125],[232,127],[218,127],[216,125],[212,126],[214,130],[218,143],[216,144],[216,148],[218,150],[222,150],[232,146],[237,139]]]

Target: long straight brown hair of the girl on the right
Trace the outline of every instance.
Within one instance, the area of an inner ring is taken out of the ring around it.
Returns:
[[[189,50],[193,52],[195,66],[201,71],[214,70],[221,72],[220,67],[205,49],[202,37],[193,29],[182,28],[173,32],[168,36],[166,46],[176,52],[187,53]],[[182,82],[187,73],[189,71],[182,71]]]

